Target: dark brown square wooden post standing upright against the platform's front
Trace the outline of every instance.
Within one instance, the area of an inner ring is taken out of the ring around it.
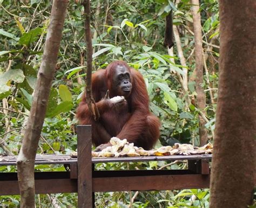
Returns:
[[[78,208],[92,207],[91,126],[77,126]]]

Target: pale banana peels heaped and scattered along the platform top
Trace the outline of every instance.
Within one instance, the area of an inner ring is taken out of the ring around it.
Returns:
[[[201,155],[212,154],[212,144],[208,143],[203,147],[193,147],[191,144],[175,143],[173,146],[160,147],[158,149],[144,150],[134,146],[126,139],[120,140],[112,137],[112,146],[106,147],[102,151],[92,151],[92,157],[140,157],[140,156],[168,156],[168,155]],[[77,157],[77,152],[73,152],[71,157]]]

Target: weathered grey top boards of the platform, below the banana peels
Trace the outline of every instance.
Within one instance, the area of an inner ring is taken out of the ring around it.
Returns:
[[[176,160],[211,160],[212,155],[170,155],[145,157],[95,157],[92,163],[110,162],[147,162],[147,161],[176,161]],[[77,164],[77,158],[70,155],[37,155],[36,164]],[[16,156],[0,156],[0,166],[16,165]]]

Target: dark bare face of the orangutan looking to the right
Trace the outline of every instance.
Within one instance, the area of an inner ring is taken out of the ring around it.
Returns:
[[[116,73],[113,76],[113,84],[116,87],[117,95],[127,98],[131,94],[131,75],[125,66],[117,66]]]

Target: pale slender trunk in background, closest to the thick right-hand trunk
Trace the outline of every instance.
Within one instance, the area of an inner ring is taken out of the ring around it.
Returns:
[[[204,61],[203,61],[203,41],[201,33],[201,16],[199,12],[199,0],[191,0],[193,26],[194,26],[194,45],[196,53],[196,92],[197,92],[197,106],[201,112],[205,114],[205,93],[202,87],[204,82]],[[200,145],[207,143],[207,129],[205,128],[205,120],[201,115],[199,117],[199,137]]]

